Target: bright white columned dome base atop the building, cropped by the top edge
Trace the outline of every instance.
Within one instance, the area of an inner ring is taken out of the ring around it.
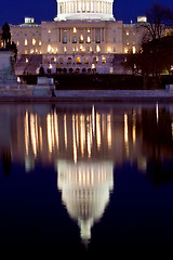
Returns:
[[[103,20],[115,21],[114,0],[56,0],[57,16],[55,21]]]

